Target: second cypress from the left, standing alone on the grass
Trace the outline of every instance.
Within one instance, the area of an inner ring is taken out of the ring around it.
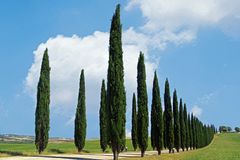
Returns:
[[[81,71],[80,75],[80,87],[78,95],[78,104],[76,109],[75,116],[75,130],[74,130],[74,142],[75,146],[78,149],[78,152],[81,152],[85,146],[86,139],[86,102],[85,102],[85,79],[84,79],[84,70]]]

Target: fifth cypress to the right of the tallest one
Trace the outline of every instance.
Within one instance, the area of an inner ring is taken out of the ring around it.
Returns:
[[[174,147],[179,152],[180,149],[180,123],[178,112],[177,91],[173,93],[173,117],[174,117]]]

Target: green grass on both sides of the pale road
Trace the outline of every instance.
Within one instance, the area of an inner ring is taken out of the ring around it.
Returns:
[[[150,144],[149,144],[150,146]],[[127,140],[127,147],[132,151],[131,141]],[[149,149],[151,149],[149,147]],[[110,151],[108,151],[110,152]],[[76,148],[73,143],[50,143],[43,154],[75,154]],[[99,141],[91,140],[86,142],[84,152],[101,153]],[[14,155],[37,155],[35,145],[28,144],[7,144],[0,143],[0,156]],[[126,160],[139,160],[140,158],[131,158]],[[163,154],[158,156],[149,156],[141,158],[142,160],[240,160],[240,134],[228,133],[216,135],[212,144],[203,148],[189,152]]]

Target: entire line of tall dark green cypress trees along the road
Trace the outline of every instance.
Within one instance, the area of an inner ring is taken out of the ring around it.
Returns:
[[[146,68],[144,54],[140,52],[137,68],[137,95],[132,97],[132,145],[134,150],[141,151],[143,157],[148,148],[148,93],[146,85]],[[108,147],[113,152],[114,160],[126,145],[126,91],[124,86],[124,67],[122,50],[122,25],[120,22],[120,5],[113,14],[110,38],[107,81],[102,80],[100,93],[100,146],[104,152]],[[81,152],[86,139],[86,96],[84,70],[80,74],[79,95],[74,122],[74,143]],[[163,148],[169,153],[174,149],[197,149],[208,145],[214,136],[215,127],[203,124],[193,114],[187,112],[186,103],[180,99],[177,91],[171,98],[168,79],[165,82],[164,111],[162,108],[157,72],[154,73],[151,104],[151,147],[161,154]],[[50,66],[48,50],[43,55],[37,91],[37,107],[35,119],[35,144],[39,153],[48,144],[50,104]]]

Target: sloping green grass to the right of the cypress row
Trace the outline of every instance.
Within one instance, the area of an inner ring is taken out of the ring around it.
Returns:
[[[131,158],[125,160],[139,160]],[[227,133],[216,135],[213,142],[202,149],[176,154],[149,156],[141,160],[240,160],[240,134]]]

